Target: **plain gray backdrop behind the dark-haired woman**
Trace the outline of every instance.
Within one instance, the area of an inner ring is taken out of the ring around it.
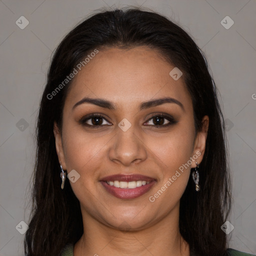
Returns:
[[[24,234],[15,227],[28,223],[34,127],[51,52],[91,11],[126,5],[174,19],[206,53],[229,129],[229,247],[256,253],[255,0],[0,0],[1,256],[23,254]],[[24,29],[15,23],[22,15],[29,21]],[[220,23],[226,15],[234,21],[229,29]]]

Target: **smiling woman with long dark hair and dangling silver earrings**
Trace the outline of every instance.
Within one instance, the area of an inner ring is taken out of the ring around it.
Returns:
[[[115,9],[65,36],[40,103],[26,255],[248,255],[221,228],[229,181],[217,89],[183,29]]]

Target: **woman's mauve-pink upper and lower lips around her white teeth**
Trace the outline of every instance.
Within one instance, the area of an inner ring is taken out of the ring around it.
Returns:
[[[115,186],[108,185],[105,181],[136,181],[136,180],[145,180],[150,181],[148,184],[141,185],[135,188],[119,188]],[[146,193],[155,183],[156,180],[139,174],[130,174],[130,175],[123,175],[123,174],[116,174],[104,177],[100,180],[100,183],[105,187],[106,191],[110,194],[114,195],[117,198],[121,199],[133,199],[141,196],[142,194]]]

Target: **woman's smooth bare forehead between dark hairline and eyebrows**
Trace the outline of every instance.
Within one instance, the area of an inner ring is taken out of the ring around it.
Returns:
[[[90,95],[119,107],[163,96],[190,104],[182,76],[174,80],[169,75],[173,68],[158,50],[147,46],[99,49],[73,78],[66,103],[74,104]]]

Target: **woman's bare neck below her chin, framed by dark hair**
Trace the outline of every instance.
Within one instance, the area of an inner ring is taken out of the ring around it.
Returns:
[[[189,246],[179,233],[178,209],[141,230],[121,231],[88,214],[83,214],[83,226],[84,232],[74,246],[74,256],[189,256]]]

